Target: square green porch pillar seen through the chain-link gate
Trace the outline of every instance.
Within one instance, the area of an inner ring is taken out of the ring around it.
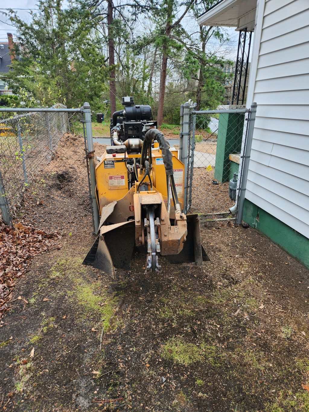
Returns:
[[[229,155],[241,151],[244,117],[244,114],[236,113],[220,113],[219,115],[215,179],[221,183],[229,180]]]

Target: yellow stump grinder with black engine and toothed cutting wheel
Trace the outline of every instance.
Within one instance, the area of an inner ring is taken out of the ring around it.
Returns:
[[[96,166],[101,220],[84,265],[108,274],[128,270],[134,248],[146,254],[146,272],[160,272],[160,255],[171,264],[208,260],[199,215],[185,215],[185,167],[152,120],[151,107],[122,98],[112,115],[111,145]]]

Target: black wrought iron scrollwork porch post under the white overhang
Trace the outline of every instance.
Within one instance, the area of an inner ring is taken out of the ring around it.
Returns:
[[[245,101],[251,37],[252,31],[247,31],[247,28],[239,32],[232,104],[243,104]]]

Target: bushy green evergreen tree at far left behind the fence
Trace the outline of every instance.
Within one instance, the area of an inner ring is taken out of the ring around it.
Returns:
[[[73,107],[88,101],[99,108],[109,69],[91,37],[91,10],[79,1],[63,9],[61,0],[39,0],[37,9],[30,23],[14,13],[10,17],[21,50],[9,73],[13,90],[26,91],[39,105]]]

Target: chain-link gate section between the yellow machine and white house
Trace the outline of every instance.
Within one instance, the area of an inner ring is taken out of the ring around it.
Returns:
[[[241,222],[256,104],[251,109],[195,109],[196,103],[188,101],[180,110],[180,160],[185,164],[186,182],[184,210],[213,215],[209,220],[232,220],[229,215],[240,205],[237,220],[240,218]]]

